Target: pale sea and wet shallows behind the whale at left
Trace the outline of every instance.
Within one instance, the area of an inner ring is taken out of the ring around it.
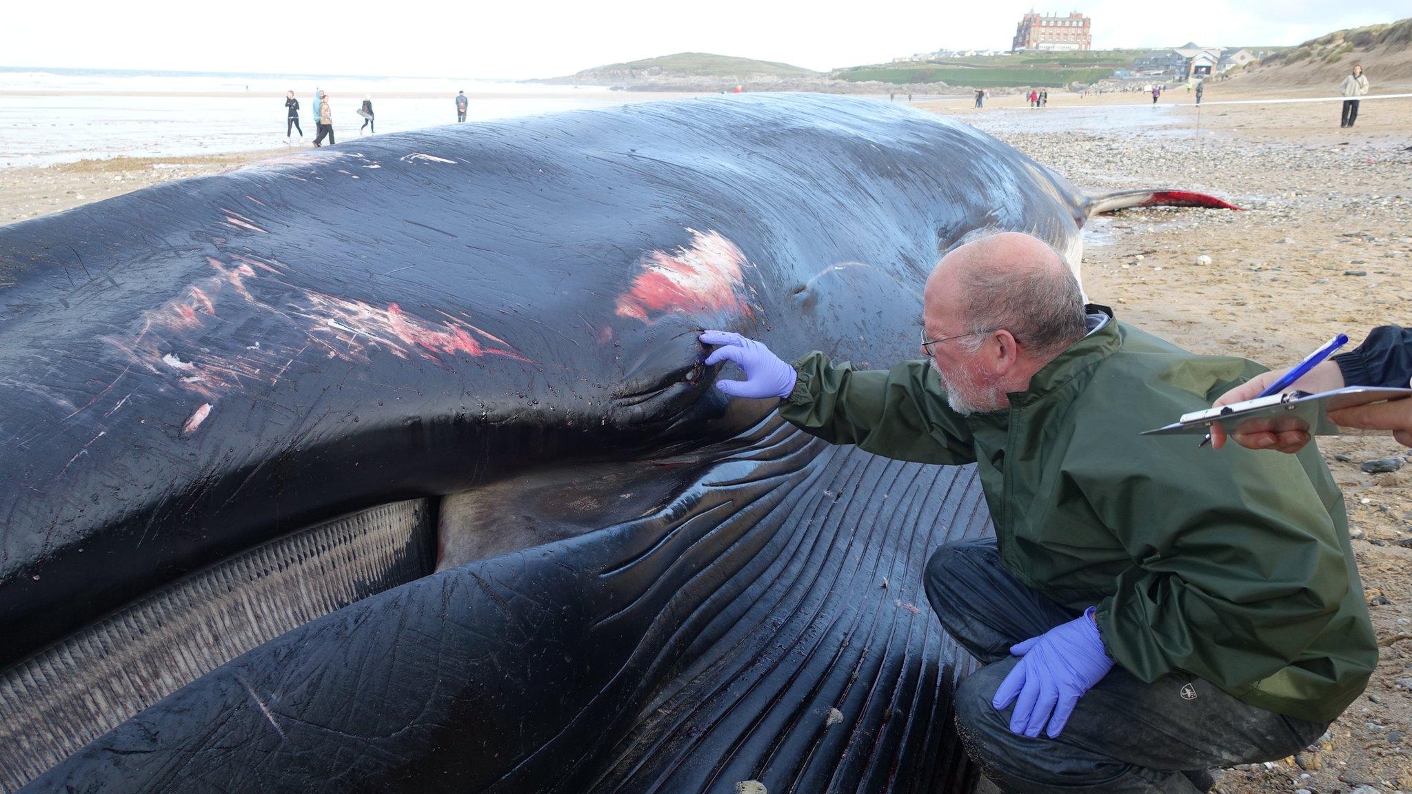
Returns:
[[[378,133],[456,123],[457,90],[470,97],[470,122],[662,99],[599,86],[455,78],[0,66],[0,167],[281,148],[289,146],[284,92],[291,89],[308,144],[315,136],[315,88],[330,96],[339,141],[359,137],[364,96],[371,96]],[[292,141],[301,143],[298,133]]]

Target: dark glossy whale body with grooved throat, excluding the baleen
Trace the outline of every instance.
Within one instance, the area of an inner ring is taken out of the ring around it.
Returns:
[[[747,95],[377,136],[0,229],[0,665],[343,511],[587,463],[666,493],[315,620],[31,786],[960,790],[964,654],[919,581],[984,531],[974,478],[729,403],[695,332],[887,366],[942,251],[986,226],[1073,251],[1087,206],[964,124]],[[777,687],[720,711],[750,674]],[[830,694],[826,729],[801,704]]]

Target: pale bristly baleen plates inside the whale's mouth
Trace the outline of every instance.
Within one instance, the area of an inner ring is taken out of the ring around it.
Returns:
[[[381,504],[186,576],[0,672],[0,791],[14,791],[232,658],[429,574],[426,499]]]

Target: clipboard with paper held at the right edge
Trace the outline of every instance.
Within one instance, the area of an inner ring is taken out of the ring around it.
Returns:
[[[1372,386],[1347,386],[1333,391],[1310,394],[1308,391],[1286,391],[1257,397],[1244,403],[1231,403],[1220,408],[1204,408],[1182,414],[1182,418],[1166,427],[1144,431],[1142,435],[1200,435],[1220,422],[1227,432],[1285,432],[1302,429],[1310,435],[1339,435],[1339,425],[1324,415],[1329,411],[1388,403],[1412,397],[1412,389],[1378,389]]]

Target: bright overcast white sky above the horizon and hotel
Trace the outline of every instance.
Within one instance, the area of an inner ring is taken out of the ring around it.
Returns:
[[[696,51],[830,69],[939,47],[1008,48],[1029,1],[16,0],[0,66],[548,78]],[[1185,8],[1182,8],[1185,6]],[[866,8],[866,13],[860,13]],[[1096,0],[1094,48],[1298,44],[1406,16],[1408,0]],[[1178,10],[1172,10],[1178,8]]]

